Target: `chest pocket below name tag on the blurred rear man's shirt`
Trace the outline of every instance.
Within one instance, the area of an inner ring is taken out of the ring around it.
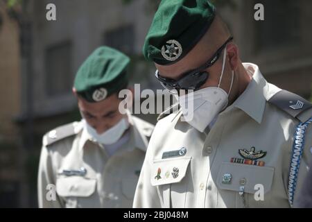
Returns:
[[[95,190],[96,179],[69,176],[56,180],[56,192],[65,200],[66,207],[78,207],[78,198],[89,198]]]

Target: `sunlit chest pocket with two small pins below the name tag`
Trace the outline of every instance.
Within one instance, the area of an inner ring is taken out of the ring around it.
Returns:
[[[190,161],[191,157],[153,161],[150,182],[159,190],[162,207],[185,207],[185,195],[189,182],[186,175]]]

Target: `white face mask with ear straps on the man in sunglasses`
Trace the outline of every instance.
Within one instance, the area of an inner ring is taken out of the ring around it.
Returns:
[[[211,121],[225,108],[227,108],[228,97],[232,90],[234,71],[232,71],[232,83],[229,94],[220,88],[225,68],[226,49],[223,56],[222,72],[218,87],[207,87],[196,92],[180,96],[179,103],[182,108],[182,120],[187,121],[191,126],[201,133]]]

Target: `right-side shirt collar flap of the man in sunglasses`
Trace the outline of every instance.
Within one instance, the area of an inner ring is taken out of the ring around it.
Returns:
[[[229,107],[239,108],[248,114],[252,119],[261,123],[263,112],[266,108],[266,98],[268,97],[268,83],[263,78],[259,67],[252,63],[243,63],[246,71],[252,75],[252,80],[243,94]]]

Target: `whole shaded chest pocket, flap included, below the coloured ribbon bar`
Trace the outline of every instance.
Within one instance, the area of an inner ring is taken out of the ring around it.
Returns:
[[[274,171],[273,167],[223,162],[216,181],[217,207],[268,207]]]

